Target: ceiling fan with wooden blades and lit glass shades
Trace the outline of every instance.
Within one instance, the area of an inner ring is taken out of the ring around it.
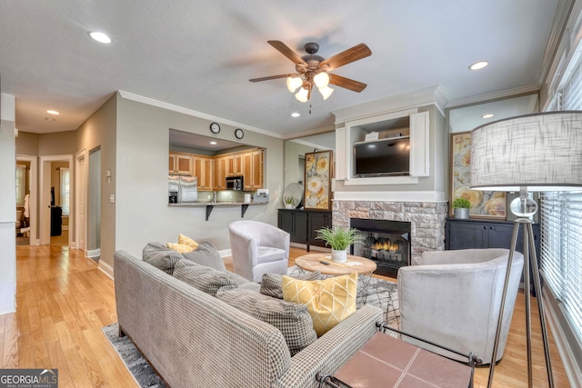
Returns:
[[[285,75],[270,75],[266,77],[253,78],[250,82],[268,81],[277,78],[286,78],[287,89],[289,92],[296,93],[297,101],[305,103],[311,97],[311,90],[313,86],[319,89],[324,100],[327,99],[334,89],[329,87],[329,84],[344,87],[348,90],[360,93],[366,89],[366,84],[343,77],[341,75],[332,75],[328,72],[336,70],[336,68],[351,64],[366,56],[372,55],[369,47],[363,43],[348,48],[346,51],[325,59],[321,55],[316,55],[319,50],[319,45],[316,43],[308,43],[305,45],[307,55],[299,56],[295,51],[291,50],[287,45],[278,40],[269,40],[266,43],[272,45],[276,50],[285,55],[295,64],[296,72]]]

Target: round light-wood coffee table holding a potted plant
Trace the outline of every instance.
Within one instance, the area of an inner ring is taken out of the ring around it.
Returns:
[[[321,262],[329,263],[323,264]],[[329,254],[304,254],[295,259],[296,266],[302,271],[315,272],[329,276],[357,273],[357,301],[358,306],[366,304],[367,287],[376,271],[376,263],[365,257],[347,255],[347,263],[360,263],[358,265],[336,264],[331,261]]]

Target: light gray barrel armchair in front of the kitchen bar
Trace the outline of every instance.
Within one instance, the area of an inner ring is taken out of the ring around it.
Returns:
[[[257,221],[228,225],[235,274],[260,283],[263,274],[286,274],[289,234]]]

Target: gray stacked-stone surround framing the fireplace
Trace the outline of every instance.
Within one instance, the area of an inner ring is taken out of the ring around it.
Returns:
[[[350,219],[387,220],[410,223],[410,263],[423,252],[445,249],[447,202],[355,201],[335,199],[333,225],[349,227]],[[396,256],[397,261],[397,256]],[[396,276],[396,275],[395,275]]]

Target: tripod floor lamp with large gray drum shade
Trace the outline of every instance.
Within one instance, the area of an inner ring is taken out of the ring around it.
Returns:
[[[499,334],[507,296],[507,283],[513,255],[516,252],[520,225],[523,225],[524,232],[528,386],[533,386],[529,295],[529,267],[531,266],[546,355],[547,380],[549,386],[554,387],[539,269],[531,226],[531,216],[536,214],[537,204],[527,196],[527,192],[582,189],[582,111],[527,114],[475,128],[471,132],[471,188],[519,192],[519,197],[513,200],[509,206],[512,213],[519,218],[514,225],[507,260],[507,272],[499,307],[497,333],[487,387],[491,387],[493,383]]]

